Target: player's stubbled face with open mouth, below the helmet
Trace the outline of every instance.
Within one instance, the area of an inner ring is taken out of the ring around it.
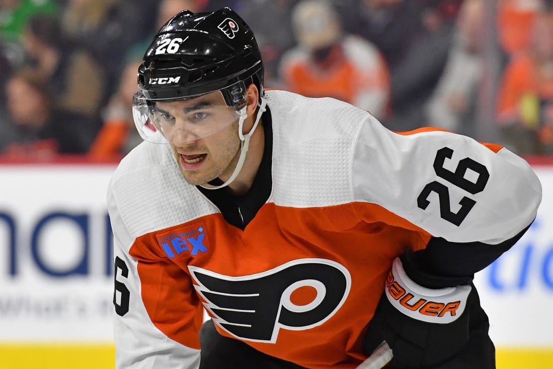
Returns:
[[[166,123],[164,134],[179,163],[186,181],[202,185],[217,178],[229,176],[239,157],[238,115],[225,106],[220,92],[208,93],[190,100],[157,102]],[[201,122],[197,122],[197,120]],[[207,123],[204,123],[207,119]],[[231,119],[231,120],[229,120]],[[218,124],[222,129],[202,136],[195,128],[200,124]]]

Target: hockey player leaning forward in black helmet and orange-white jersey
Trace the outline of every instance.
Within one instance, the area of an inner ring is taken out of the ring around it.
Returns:
[[[108,190],[118,368],[495,366],[472,279],[536,216],[523,159],[264,91],[228,8],[176,14],[138,84],[146,142]]]

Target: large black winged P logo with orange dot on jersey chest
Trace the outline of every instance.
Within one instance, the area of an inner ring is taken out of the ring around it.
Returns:
[[[351,288],[347,269],[326,259],[299,259],[242,277],[188,268],[215,324],[239,339],[255,342],[276,342],[280,329],[306,330],[325,323]],[[296,300],[296,293],[306,287],[315,295]]]

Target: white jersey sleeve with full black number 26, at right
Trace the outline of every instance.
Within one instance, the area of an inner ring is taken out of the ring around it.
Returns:
[[[354,201],[382,206],[448,242],[510,240],[541,201],[541,184],[524,159],[439,129],[397,133],[368,117],[351,163]]]

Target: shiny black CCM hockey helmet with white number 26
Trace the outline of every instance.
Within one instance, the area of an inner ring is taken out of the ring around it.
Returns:
[[[144,98],[182,100],[221,90],[228,106],[243,105],[254,83],[263,95],[263,62],[252,30],[232,9],[182,11],[155,35],[138,69]]]

